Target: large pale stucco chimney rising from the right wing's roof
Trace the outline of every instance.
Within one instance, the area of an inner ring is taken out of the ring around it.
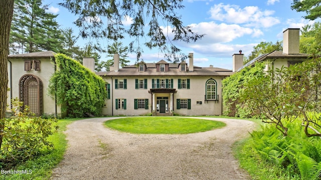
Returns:
[[[299,49],[299,28],[287,28],[283,31],[283,53],[298,54]]]

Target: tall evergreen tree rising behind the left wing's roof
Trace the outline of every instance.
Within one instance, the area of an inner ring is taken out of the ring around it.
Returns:
[[[15,0],[10,32],[12,53],[62,50],[62,33],[55,18],[46,12],[42,0]]]

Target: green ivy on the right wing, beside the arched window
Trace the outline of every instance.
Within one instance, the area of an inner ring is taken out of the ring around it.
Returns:
[[[245,67],[241,71],[225,78],[223,83],[224,113],[228,116],[252,117],[255,115],[251,109],[244,108],[240,95],[244,90],[244,84],[263,76],[265,63],[256,63],[254,67]]]

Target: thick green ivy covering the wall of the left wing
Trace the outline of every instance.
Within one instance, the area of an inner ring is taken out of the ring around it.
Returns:
[[[62,113],[69,117],[100,115],[107,95],[105,81],[64,54],[56,54],[55,63],[57,70],[50,79],[49,93],[56,95]]]

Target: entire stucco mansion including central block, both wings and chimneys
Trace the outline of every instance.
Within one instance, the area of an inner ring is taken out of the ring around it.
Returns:
[[[9,55],[8,74],[10,91],[7,103],[18,97],[37,115],[61,114],[61,106],[48,95],[49,79],[55,72],[53,51]],[[107,97],[103,115],[221,115],[222,80],[243,66],[243,54],[233,57],[233,69],[194,66],[193,53],[189,61],[156,63],[143,61],[119,68],[119,56],[114,55],[114,66],[107,72],[95,72],[106,81]],[[255,61],[267,61],[266,68],[290,65],[308,59],[299,53],[299,29],[283,31],[283,52],[262,54]],[[83,65],[94,71],[94,59],[83,58]]]

